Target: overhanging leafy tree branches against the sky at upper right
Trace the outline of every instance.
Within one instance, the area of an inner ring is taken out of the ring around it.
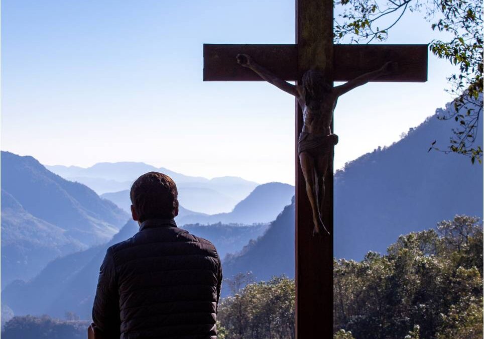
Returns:
[[[450,145],[443,152],[455,152],[481,162],[482,148],[474,145],[482,112],[482,0],[339,0],[344,9],[335,20],[335,41],[384,41],[405,12],[423,12],[431,29],[448,33],[446,41],[433,40],[430,51],[458,66],[447,77],[446,89],[455,99],[453,109],[439,116],[453,119]],[[432,143],[430,149],[439,150]],[[440,150],[439,150],[440,151]]]

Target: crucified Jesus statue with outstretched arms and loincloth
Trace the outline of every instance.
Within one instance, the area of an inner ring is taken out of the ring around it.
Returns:
[[[323,74],[308,70],[302,78],[302,85],[293,85],[279,79],[266,68],[257,64],[247,54],[238,54],[237,62],[252,69],[261,78],[296,97],[303,114],[304,126],[298,139],[298,155],[306,181],[306,191],[313,213],[313,236],[329,235],[322,221],[324,205],[324,179],[333,160],[334,145],[338,136],[331,133],[331,121],[338,97],[381,75],[393,73],[397,64],[387,62],[382,68],[360,75],[339,86],[327,85]]]

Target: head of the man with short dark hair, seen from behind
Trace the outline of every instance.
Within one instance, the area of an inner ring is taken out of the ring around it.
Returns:
[[[131,186],[130,197],[131,212],[136,221],[178,215],[178,191],[168,175],[158,172],[143,174]]]

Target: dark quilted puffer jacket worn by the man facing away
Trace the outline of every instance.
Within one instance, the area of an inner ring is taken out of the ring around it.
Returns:
[[[146,220],[107,250],[92,320],[106,338],[215,339],[221,281],[209,241],[173,219]]]

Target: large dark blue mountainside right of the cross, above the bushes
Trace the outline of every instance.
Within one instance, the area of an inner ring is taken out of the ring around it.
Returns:
[[[399,235],[435,227],[455,214],[482,217],[483,166],[430,151],[448,145],[455,123],[436,116],[405,138],[347,163],[334,175],[334,256],[385,253]],[[477,145],[482,145],[482,123]]]

